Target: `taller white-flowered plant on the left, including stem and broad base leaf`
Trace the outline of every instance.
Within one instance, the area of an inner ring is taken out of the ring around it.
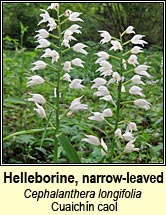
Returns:
[[[56,17],[53,18],[49,14],[49,10],[56,12]],[[64,13],[60,14],[60,5],[59,3],[51,3],[47,10],[41,9],[42,13],[40,16],[42,20],[38,23],[38,26],[43,24],[47,25],[48,29],[41,28],[37,30],[37,47],[36,49],[42,49],[44,54],[41,55],[41,60],[37,60],[33,63],[34,67],[31,69],[32,72],[41,73],[33,74],[31,77],[28,77],[27,87],[33,87],[40,84],[49,84],[53,87],[52,94],[55,97],[55,104],[49,102],[41,94],[30,94],[32,97],[28,98],[28,101],[34,102],[34,110],[37,112],[39,117],[46,119],[46,124],[51,126],[55,131],[55,142],[54,142],[54,162],[57,162],[58,159],[58,144],[62,144],[62,147],[70,151],[69,159],[73,162],[80,162],[74,148],[72,145],[67,142],[67,139],[61,134],[60,123],[63,116],[68,112],[73,113],[79,110],[88,109],[86,104],[81,103],[83,96],[79,96],[74,99],[71,104],[68,104],[64,113],[61,113],[61,106],[63,105],[63,97],[65,92],[68,89],[78,90],[83,89],[84,85],[82,84],[83,80],[79,78],[72,79],[71,71],[73,67],[84,68],[84,61],[80,58],[74,58],[72,60],[66,60],[67,52],[73,50],[76,53],[81,53],[87,55],[85,48],[86,45],[77,42],[73,44],[73,41],[76,42],[76,34],[81,34],[81,26],[78,24],[73,24],[74,22],[83,22],[79,17],[81,13],[72,12],[71,10],[66,10]],[[70,22],[71,25],[64,29],[64,24]],[[72,44],[72,45],[71,45]],[[51,59],[51,61],[49,60]],[[54,80],[50,82],[48,78],[42,77],[42,71],[48,68],[50,71],[54,72]],[[50,107],[51,111],[46,111]],[[63,108],[64,109],[64,108]],[[55,113],[55,122],[51,121],[51,115]],[[46,128],[47,130],[48,128]],[[67,148],[66,146],[67,145]],[[75,158],[75,159],[74,159]]]

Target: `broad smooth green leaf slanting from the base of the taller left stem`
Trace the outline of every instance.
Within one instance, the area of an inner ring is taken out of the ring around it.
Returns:
[[[69,142],[69,140],[65,137],[63,133],[57,135],[57,139],[63,149],[65,150],[68,159],[71,163],[81,163],[76,150],[73,148],[72,144]]]

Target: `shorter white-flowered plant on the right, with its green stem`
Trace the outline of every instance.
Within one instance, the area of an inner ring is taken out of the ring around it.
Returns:
[[[136,122],[129,119],[129,116],[124,116],[123,109],[127,108],[131,115],[133,109],[148,110],[150,108],[150,103],[145,99],[140,86],[145,85],[141,80],[143,77],[151,76],[147,72],[149,66],[139,65],[137,57],[137,54],[143,52],[141,46],[147,44],[142,39],[144,35],[135,34],[133,26],[129,26],[123,33],[120,33],[119,39],[104,30],[99,33],[102,37],[100,43],[108,44],[110,48],[107,52],[102,50],[97,53],[98,59],[95,63],[100,66],[96,70],[99,77],[92,80],[91,89],[94,90],[93,95],[100,100],[100,112],[92,111],[88,119],[96,121],[98,126],[99,123],[105,122],[109,126],[109,134],[105,137],[107,143],[104,142],[103,137],[100,141],[98,137],[87,134],[82,141],[99,146],[104,156],[103,162],[104,159],[106,162],[113,162],[124,154],[140,150],[134,145]],[[135,35],[124,42],[126,34]],[[129,43],[134,46],[129,51],[125,51],[125,46]],[[101,102],[105,103],[105,109],[100,105]]]

